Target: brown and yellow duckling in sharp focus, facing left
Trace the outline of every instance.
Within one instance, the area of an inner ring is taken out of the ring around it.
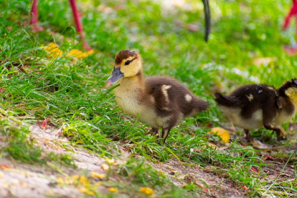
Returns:
[[[143,77],[141,56],[131,50],[116,54],[113,72],[106,84],[113,83],[120,84],[113,92],[123,112],[149,124],[153,135],[158,133],[161,137],[159,128],[162,128],[162,143],[177,122],[206,111],[210,105],[176,80],[163,76]]]

